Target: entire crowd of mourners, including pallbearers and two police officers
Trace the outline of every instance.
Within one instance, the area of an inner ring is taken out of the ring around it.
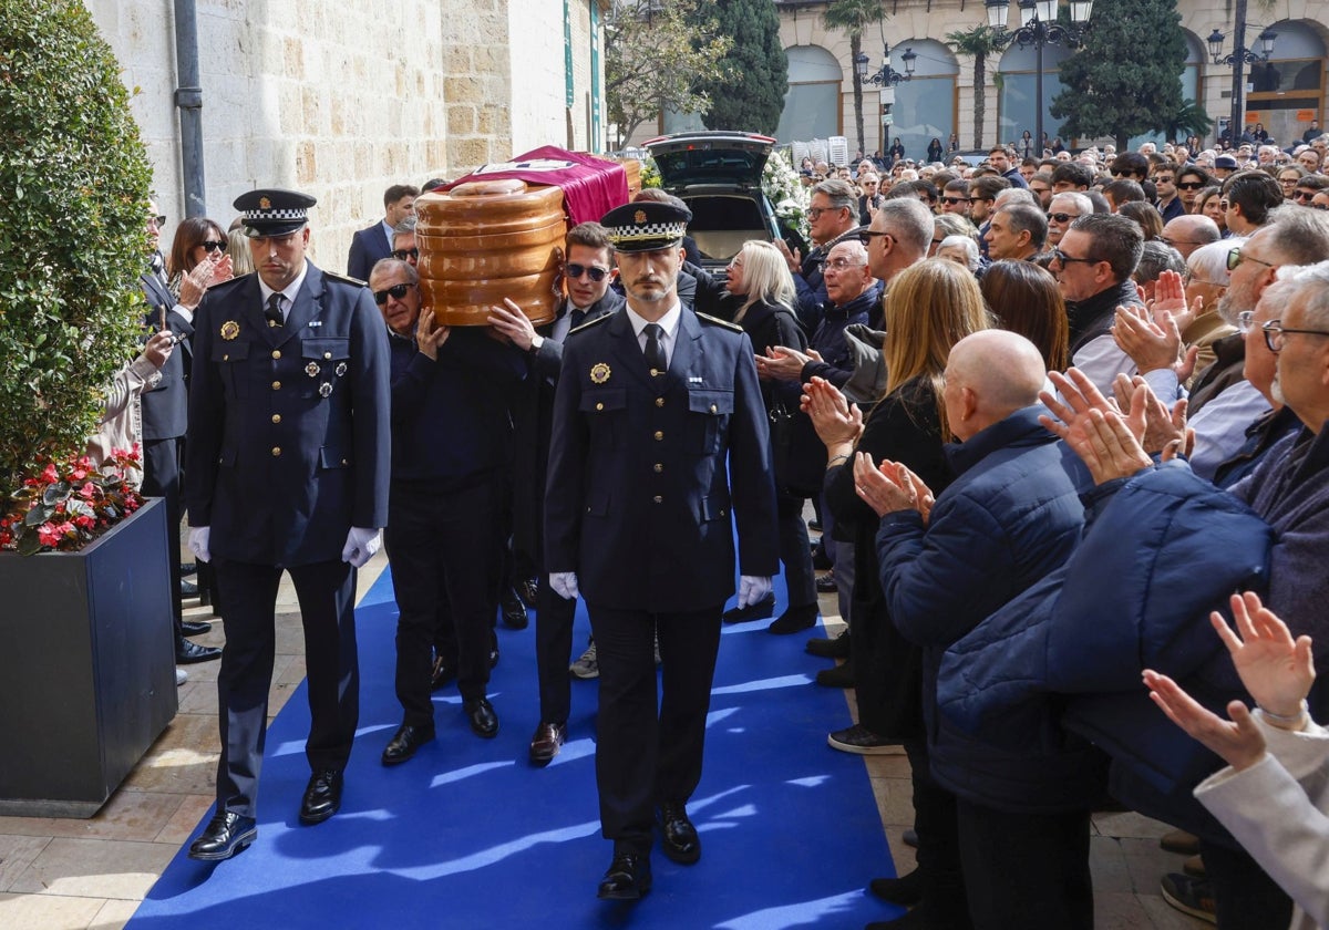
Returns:
[[[566,737],[569,674],[599,679],[602,898],[650,891],[655,832],[699,861],[719,631],[772,618],[783,567],[769,632],[813,627],[817,590],[847,623],[807,642],[856,704],[829,745],[912,764],[918,866],[870,885],[910,910],[872,926],[1092,926],[1104,804],[1199,852],[1163,878],[1176,906],[1329,919],[1308,872],[1329,844],[1309,671],[1329,644],[1326,145],[812,166],[807,254],[752,240],[724,274],[686,205],[642,191],[567,232],[538,326],[512,302],[437,323],[408,185],[347,278],[306,258],[303,194],[243,195],[230,235],[182,223],[145,272],[155,336],[132,368],[146,411],[153,369],[182,363],[187,416],[145,433],[165,446],[148,472],[226,624],[217,808],[190,856],[256,837],[283,571],[308,655],[300,821],[340,808],[355,569],[381,541],[403,707],[383,764],[436,737],[439,688],[498,732],[494,627],[534,608],[533,765]],[[570,666],[578,599],[593,643]],[[179,662],[218,658],[186,635]]]

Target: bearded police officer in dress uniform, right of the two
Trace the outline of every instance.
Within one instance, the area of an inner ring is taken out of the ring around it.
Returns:
[[[599,654],[595,777],[614,842],[599,897],[635,899],[651,886],[653,821],[668,858],[702,854],[686,802],[702,777],[720,614],[734,593],[734,519],[740,606],[771,590],[777,534],[752,343],[684,310],[675,291],[687,211],[629,203],[601,222],[627,304],[563,345],[545,553],[550,587],[586,599]]]

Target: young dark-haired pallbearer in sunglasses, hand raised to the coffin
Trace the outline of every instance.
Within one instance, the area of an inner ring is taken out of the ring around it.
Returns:
[[[565,240],[563,282],[567,296],[553,323],[532,326],[510,307],[493,307],[489,324],[528,355],[530,376],[512,405],[517,434],[513,522],[518,573],[528,567],[541,579],[536,593],[536,671],[540,678],[540,724],[532,733],[532,765],[548,765],[567,737],[571,680],[567,659],[573,646],[575,598],[562,598],[549,587],[545,573],[544,477],[549,473],[549,444],[554,417],[554,389],[563,363],[563,341],[573,329],[623,307],[623,295],[610,287],[618,276],[614,246],[599,223],[578,223]],[[589,652],[590,650],[587,650]],[[591,662],[590,658],[586,662]]]

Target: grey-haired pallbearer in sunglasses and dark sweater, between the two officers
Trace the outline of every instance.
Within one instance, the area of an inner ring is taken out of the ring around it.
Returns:
[[[431,654],[440,639],[472,732],[498,735],[486,695],[493,579],[512,461],[508,396],[526,363],[482,328],[439,326],[421,310],[419,275],[407,262],[375,264],[369,290],[388,324],[392,365],[387,543],[403,716],[381,761],[399,765],[435,737]],[[441,635],[440,615],[449,620]]]

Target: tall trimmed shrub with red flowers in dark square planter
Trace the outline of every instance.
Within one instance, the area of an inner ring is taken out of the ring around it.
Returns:
[[[0,113],[0,813],[90,816],[177,701],[165,509],[78,460],[138,352],[152,170],[74,0],[7,0]]]

